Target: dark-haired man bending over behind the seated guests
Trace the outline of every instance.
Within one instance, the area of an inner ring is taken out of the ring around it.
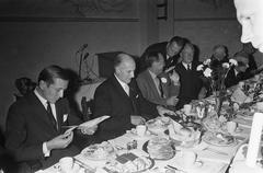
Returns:
[[[164,70],[175,66],[180,61],[179,55],[185,43],[186,43],[185,38],[174,36],[169,42],[162,42],[150,45],[149,47],[146,48],[145,53],[140,57],[139,71],[142,71],[147,68],[145,59],[150,51],[158,51],[162,54],[165,61]]]

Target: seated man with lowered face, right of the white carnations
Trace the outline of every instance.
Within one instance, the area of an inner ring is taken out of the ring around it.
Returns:
[[[231,67],[226,79],[225,85],[226,88],[230,88],[239,83],[239,81],[249,79],[251,77],[250,73],[245,72],[249,68],[249,59],[242,53],[237,53],[233,55],[233,59],[238,61],[238,66]]]

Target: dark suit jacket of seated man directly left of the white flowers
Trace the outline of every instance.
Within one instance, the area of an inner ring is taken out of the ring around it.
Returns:
[[[175,71],[180,76],[180,92],[178,108],[181,108],[184,104],[190,103],[192,100],[197,100],[201,89],[203,86],[203,80],[199,72],[196,71],[198,62],[192,62],[191,70],[186,70],[182,62],[178,64]]]

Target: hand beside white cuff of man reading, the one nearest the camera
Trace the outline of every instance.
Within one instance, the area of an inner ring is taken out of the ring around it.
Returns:
[[[72,141],[73,139],[73,132],[69,131],[62,135],[59,135],[52,140],[46,142],[47,149],[52,151],[53,149],[64,149],[68,147],[68,145]]]

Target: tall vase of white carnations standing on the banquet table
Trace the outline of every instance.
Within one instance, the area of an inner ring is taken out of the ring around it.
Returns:
[[[220,115],[222,97],[226,95],[225,79],[229,70],[237,65],[237,60],[229,59],[228,62],[213,66],[211,59],[206,59],[202,65],[197,66],[196,70],[201,71],[201,74],[206,79],[208,92],[215,97],[215,109],[217,115]]]

